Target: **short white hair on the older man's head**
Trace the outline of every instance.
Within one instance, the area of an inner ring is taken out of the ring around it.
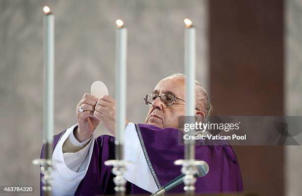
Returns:
[[[166,78],[185,78],[185,74],[181,73],[176,73],[176,74],[170,74],[166,76]],[[196,108],[200,110],[201,112],[204,112],[205,116],[204,119],[207,118],[207,116],[212,112],[213,108],[210,103],[210,98],[208,95],[208,92],[206,89],[198,82],[195,80],[195,92],[196,92]]]

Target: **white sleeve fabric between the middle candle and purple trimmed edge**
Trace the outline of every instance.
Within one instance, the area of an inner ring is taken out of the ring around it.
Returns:
[[[124,159],[132,163],[126,167],[125,179],[150,193],[154,193],[158,188],[146,161],[134,123],[128,123],[124,132],[124,139]]]

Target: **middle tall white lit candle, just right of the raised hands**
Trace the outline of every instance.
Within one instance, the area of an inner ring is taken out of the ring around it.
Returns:
[[[123,21],[116,20],[115,85],[116,85],[116,141],[123,143],[126,124],[126,81],[127,81],[127,28]]]

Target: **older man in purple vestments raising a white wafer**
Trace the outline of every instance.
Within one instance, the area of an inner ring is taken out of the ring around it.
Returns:
[[[185,115],[185,79],[174,74],[161,80],[151,94],[144,97],[150,105],[146,124],[125,124],[124,159],[133,164],[124,174],[127,193],[154,193],[180,175],[176,159],[184,158],[184,146],[179,144],[178,117]],[[206,90],[196,82],[196,118],[205,119],[211,112]],[[79,112],[79,107],[83,111]],[[135,109],[137,110],[137,109]],[[94,138],[99,123],[114,135],[114,99],[97,99],[85,93],[76,106],[77,124],[54,137],[56,144],[54,195],[113,194],[112,168],[104,162],[114,159],[114,137]],[[206,161],[209,172],[197,179],[197,193],[241,192],[239,165],[234,151],[224,145],[196,145],[196,159]],[[43,156],[43,155],[41,155]],[[174,192],[182,192],[182,186]],[[172,191],[172,192],[173,192]]]

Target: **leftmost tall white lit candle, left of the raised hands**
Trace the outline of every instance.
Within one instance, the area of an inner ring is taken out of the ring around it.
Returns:
[[[43,11],[43,140],[52,143],[54,130],[54,16],[47,6],[43,8]]]

